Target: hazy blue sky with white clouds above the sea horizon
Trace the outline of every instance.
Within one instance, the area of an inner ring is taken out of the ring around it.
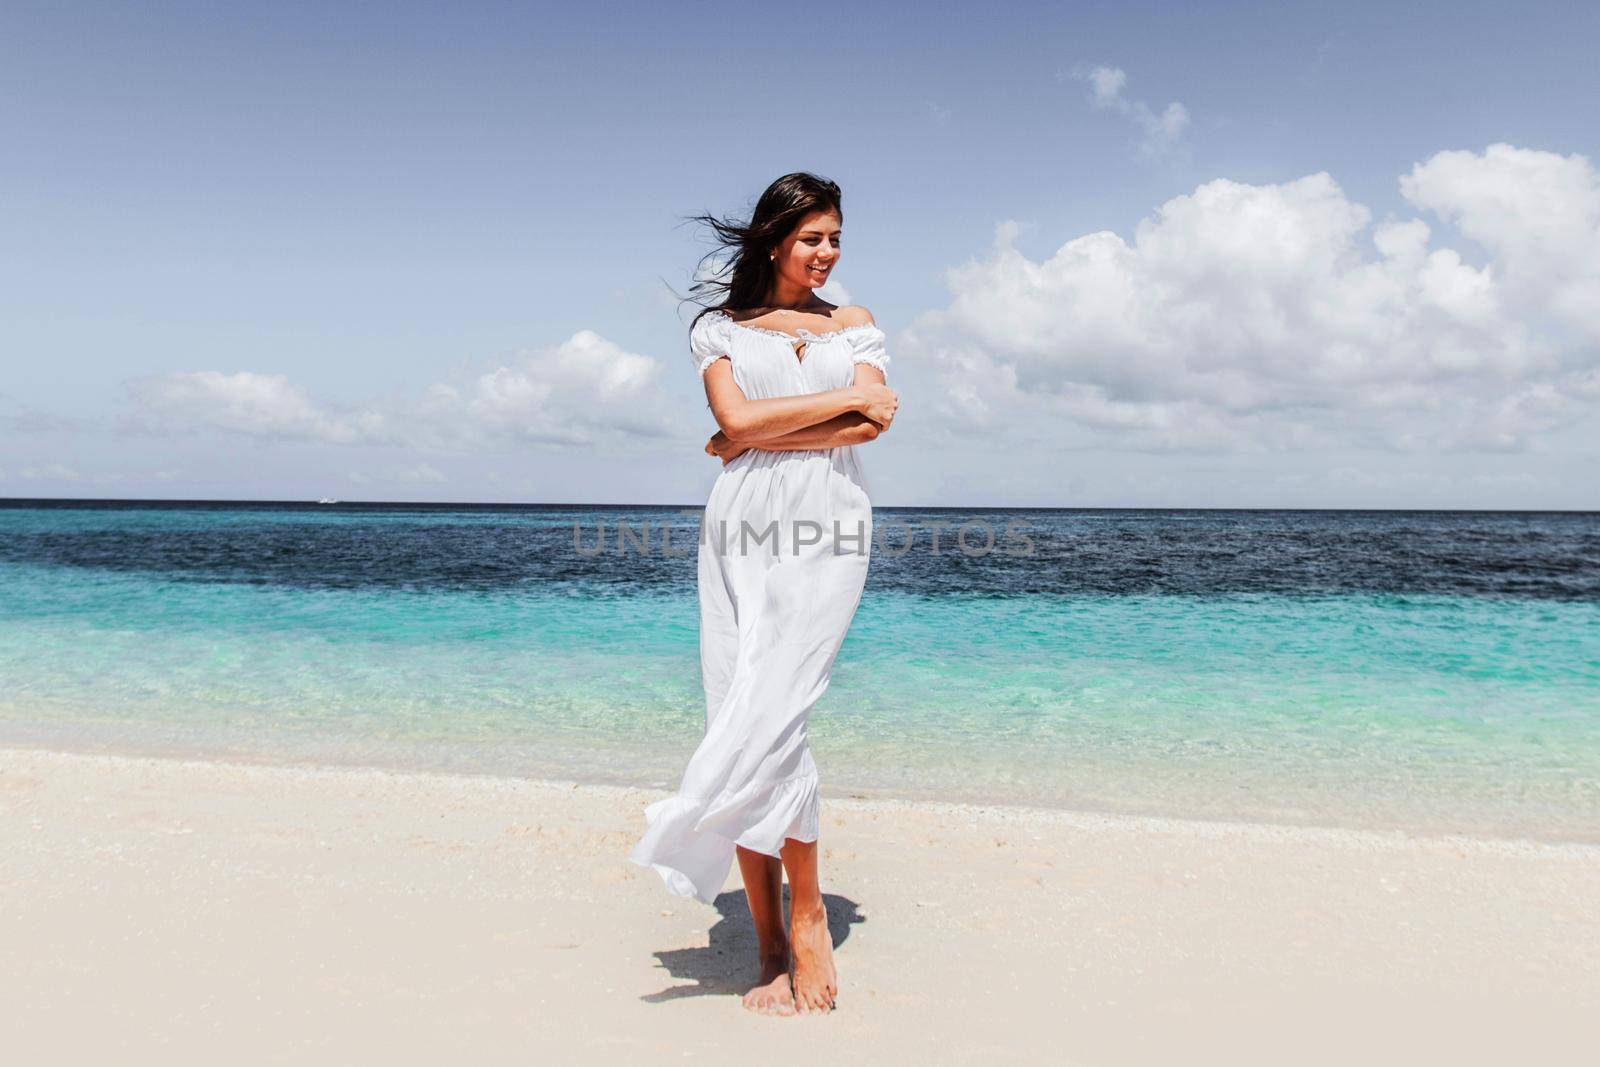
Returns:
[[[0,496],[701,502],[715,427],[662,282],[706,245],[678,221],[813,170],[891,339],[878,504],[1597,507],[1597,30],[1582,5],[13,3]],[[1562,238],[1528,246],[1549,189]],[[1227,291],[1174,264],[1227,275],[1267,216],[1259,240],[1338,248],[1219,339],[1285,264]],[[1114,250],[1136,338],[1082,325],[1104,275],[1035,277],[1152,219]],[[1357,341],[1302,307],[1398,264],[1374,232],[1411,219],[1459,259],[1445,290],[1395,267],[1349,298]],[[1464,285],[1499,288],[1440,296]],[[1430,349],[1456,328],[1467,355]],[[1346,373],[1389,341],[1410,370]],[[608,358],[621,394],[562,379]],[[485,379],[552,392],[478,432]]]

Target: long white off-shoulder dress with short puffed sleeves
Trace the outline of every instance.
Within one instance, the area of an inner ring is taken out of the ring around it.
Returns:
[[[690,355],[701,376],[728,357],[733,381],[762,400],[842,389],[856,363],[886,374],[883,341],[872,323],[787,334],[714,310],[690,331]],[[854,445],[750,448],[717,475],[699,541],[706,736],[677,795],[645,808],[629,854],[670,893],[710,904],[734,845],[778,856],[786,838],[818,838],[806,723],[861,603],[870,552],[872,501]]]

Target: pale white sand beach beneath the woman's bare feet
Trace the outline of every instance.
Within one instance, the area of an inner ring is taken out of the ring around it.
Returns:
[[[1592,1062],[1600,848],[827,795],[763,1017],[661,793],[0,750],[0,1048],[77,1062]],[[750,1057],[746,1061],[746,1057]]]

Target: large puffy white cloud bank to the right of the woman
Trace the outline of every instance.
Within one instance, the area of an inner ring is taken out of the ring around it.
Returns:
[[[899,344],[938,373],[950,429],[1030,427],[1062,446],[1520,450],[1587,413],[1592,165],[1443,152],[1402,192],[1478,248],[1422,218],[1374,226],[1325,173],[1218,179],[1131,240],[1085,234],[1043,261],[1002,224]]]

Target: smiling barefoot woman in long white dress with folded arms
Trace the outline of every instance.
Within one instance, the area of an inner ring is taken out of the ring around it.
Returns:
[[[645,809],[629,856],[707,904],[738,857],[762,955],[744,1005],[765,1014],[830,1011],[838,992],[806,721],[867,577],[856,445],[899,406],[870,312],[816,294],[838,266],[840,200],[830,181],[786,174],[746,224],[698,216],[728,253],[728,280],[694,286],[722,301],[690,331],[722,427],[706,451],[723,462],[699,544],[706,736],[678,793]]]

